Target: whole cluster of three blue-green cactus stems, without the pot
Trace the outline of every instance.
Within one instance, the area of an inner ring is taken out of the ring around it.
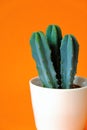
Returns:
[[[59,26],[49,25],[46,34],[32,34],[30,45],[43,86],[72,88],[79,52],[76,38],[70,34],[62,37]]]

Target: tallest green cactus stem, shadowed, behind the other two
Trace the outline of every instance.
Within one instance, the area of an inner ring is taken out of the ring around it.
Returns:
[[[53,61],[54,69],[56,71],[58,84],[59,86],[61,86],[61,75],[60,75],[60,45],[62,40],[61,29],[56,25],[49,25],[46,30],[46,37],[48,40],[49,47],[51,49],[51,59]]]

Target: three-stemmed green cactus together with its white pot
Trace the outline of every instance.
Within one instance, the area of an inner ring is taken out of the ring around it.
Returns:
[[[79,44],[59,26],[49,25],[30,38],[38,77],[30,80],[37,130],[85,130],[87,79],[76,75]]]

